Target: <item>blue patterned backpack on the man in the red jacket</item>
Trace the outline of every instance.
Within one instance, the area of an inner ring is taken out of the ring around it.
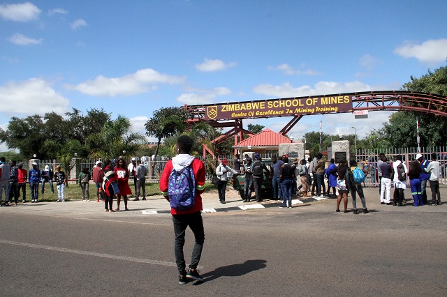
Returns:
[[[175,169],[168,178],[168,197],[170,207],[176,211],[187,211],[196,201],[196,177],[191,165],[177,172]]]

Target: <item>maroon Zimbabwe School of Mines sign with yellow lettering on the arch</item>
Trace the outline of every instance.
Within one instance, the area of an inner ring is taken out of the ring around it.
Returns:
[[[268,118],[298,114],[351,112],[352,96],[283,98],[205,105],[205,120]]]

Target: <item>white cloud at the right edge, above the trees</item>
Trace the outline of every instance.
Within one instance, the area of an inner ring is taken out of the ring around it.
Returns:
[[[439,63],[447,58],[447,39],[427,40],[421,45],[406,43],[396,47],[395,54],[405,59],[416,58],[423,63]]]

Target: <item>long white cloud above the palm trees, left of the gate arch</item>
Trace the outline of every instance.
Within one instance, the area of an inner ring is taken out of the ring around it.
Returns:
[[[166,75],[151,68],[138,70],[123,77],[104,77],[99,75],[94,80],[82,82],[76,86],[67,86],[91,96],[133,96],[156,89],[156,84],[181,84],[183,77]]]

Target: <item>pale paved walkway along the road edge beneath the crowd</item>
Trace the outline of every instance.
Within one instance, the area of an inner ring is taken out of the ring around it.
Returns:
[[[367,201],[374,201],[374,204],[379,204],[379,190],[378,188],[364,188],[365,197]],[[427,190],[429,201],[431,199],[431,192]],[[393,189],[391,190],[391,195],[393,195]],[[441,200],[446,201],[444,197],[447,195],[447,188],[441,188]],[[249,203],[243,203],[242,199],[240,199],[239,193],[233,188],[227,188],[226,192],[226,204],[221,204],[219,201],[219,197],[217,191],[206,192],[202,195],[203,197],[203,212],[204,213],[216,213],[216,212],[226,212],[226,211],[247,211],[247,210],[256,210],[259,208],[270,208],[270,207],[279,207],[282,204],[282,201],[273,201],[270,199],[264,199],[261,203],[256,201],[251,201]],[[252,198],[254,195],[252,195]],[[407,205],[411,205],[411,193],[409,189],[405,190],[405,197],[408,199]],[[376,199],[375,199],[376,198]],[[122,214],[138,214],[138,215],[154,215],[154,214],[163,214],[170,213],[170,206],[168,201],[161,195],[150,196],[146,201],[132,201],[131,198],[129,201],[129,209],[130,211],[124,210],[124,201],[121,202],[121,211],[117,213]],[[297,198],[293,197],[292,204],[293,206],[298,204],[316,204],[318,205],[318,201],[325,200],[323,198]],[[333,199],[335,200],[335,199]],[[335,201],[334,201],[335,202]],[[360,199],[358,204],[361,203]],[[335,205],[335,204],[334,204]],[[349,206],[351,206],[351,197],[349,197]],[[369,202],[368,202],[369,206]],[[113,208],[117,207],[116,200],[113,201]],[[3,212],[34,212],[41,213],[44,215],[70,215],[70,214],[98,214],[104,211],[103,202],[96,202],[96,200],[91,201],[67,201],[63,202],[39,202],[37,204],[31,204],[29,201],[25,204],[20,203],[17,206],[2,206],[0,207],[0,214]]]

